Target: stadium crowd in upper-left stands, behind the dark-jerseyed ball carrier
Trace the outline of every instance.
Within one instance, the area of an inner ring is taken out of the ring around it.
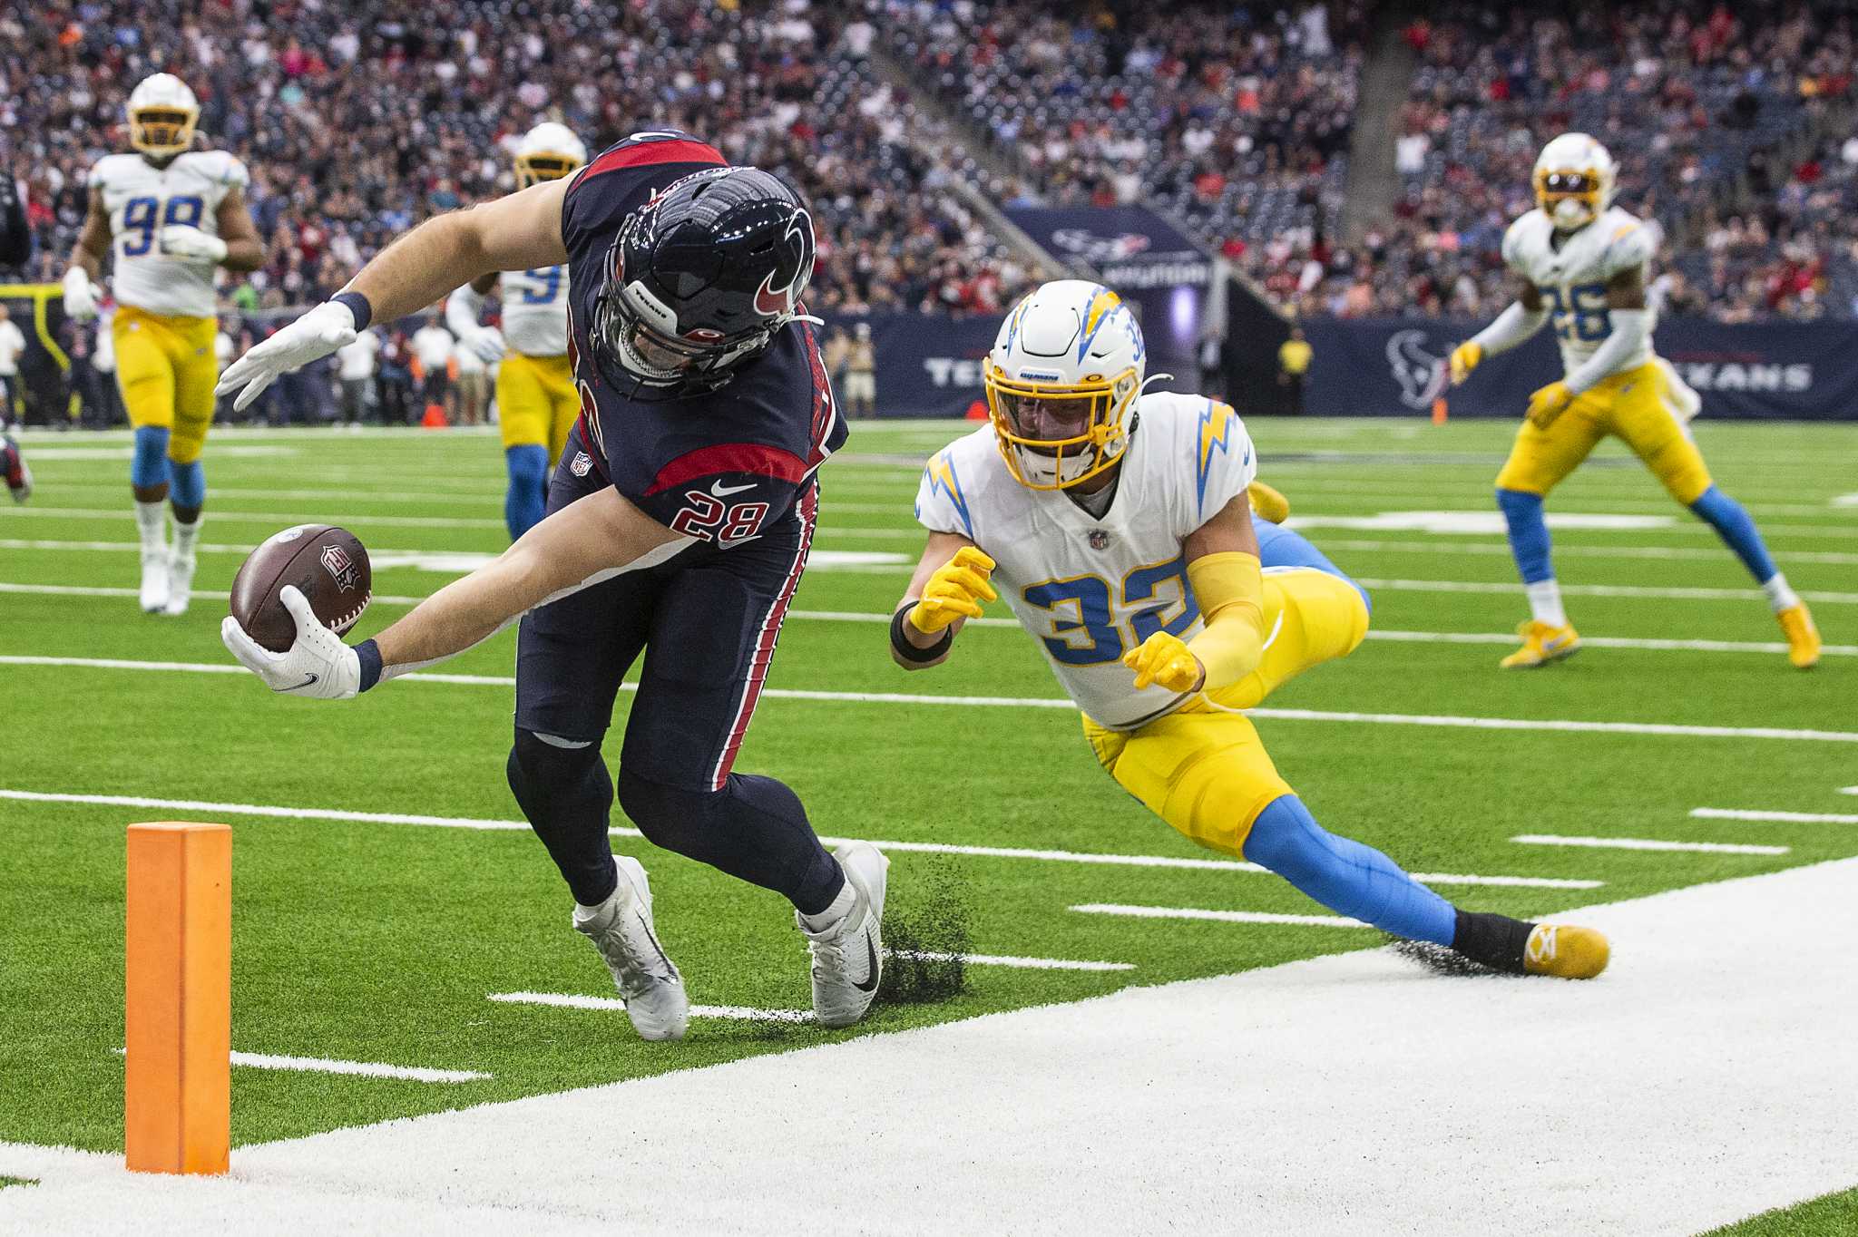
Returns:
[[[33,275],[56,280],[87,169],[124,149],[128,89],[178,72],[208,141],[251,167],[269,262],[227,297],[253,312],[312,303],[422,217],[507,191],[537,121],[593,150],[674,126],[808,195],[814,308],[996,312],[1027,273],[946,191],[959,147],[864,69],[873,37],[806,0],[54,0],[0,13],[0,167],[28,186]]]

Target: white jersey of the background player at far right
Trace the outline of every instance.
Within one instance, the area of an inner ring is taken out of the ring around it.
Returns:
[[[1613,334],[1607,318],[1607,280],[1657,253],[1661,234],[1655,223],[1609,206],[1585,228],[1555,245],[1555,225],[1540,210],[1531,210],[1503,234],[1503,262],[1542,293],[1561,344],[1563,370],[1574,373],[1600,344]],[[1657,325],[1654,321],[1654,325]],[[1652,360],[1652,332],[1618,370],[1633,370]]]

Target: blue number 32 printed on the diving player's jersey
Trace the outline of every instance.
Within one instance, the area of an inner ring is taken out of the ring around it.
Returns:
[[[1065,665],[1102,665],[1120,661],[1156,632],[1180,635],[1200,617],[1187,591],[1187,559],[1169,559],[1137,566],[1122,578],[1119,591],[1102,576],[1068,576],[1029,585],[1026,600],[1052,611],[1052,633],[1042,635],[1046,652]]]

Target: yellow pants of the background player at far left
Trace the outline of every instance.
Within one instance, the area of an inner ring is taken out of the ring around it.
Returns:
[[[164,318],[134,305],[117,306],[110,336],[117,349],[117,386],[128,423],[158,425],[167,435],[167,459],[191,464],[214,423],[214,318]]]

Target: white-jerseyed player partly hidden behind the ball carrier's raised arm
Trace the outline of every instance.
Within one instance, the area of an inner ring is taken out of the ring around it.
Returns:
[[[572,176],[587,162],[587,147],[565,124],[544,121],[517,145],[517,188]],[[478,325],[483,297],[502,282],[504,329]],[[543,518],[548,474],[580,416],[574,368],[569,364],[569,267],[485,275],[446,299],[446,325],[485,364],[496,370],[496,416],[504,429],[509,488],[504,522],[509,539],[522,537]]]

